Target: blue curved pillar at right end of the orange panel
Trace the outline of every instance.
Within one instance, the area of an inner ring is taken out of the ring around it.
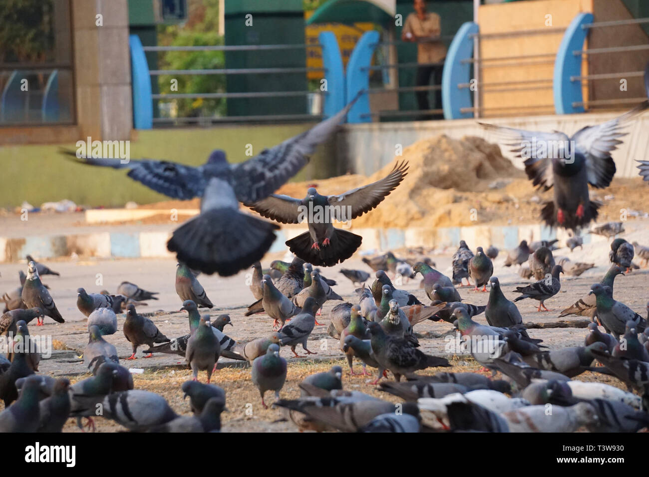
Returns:
[[[571,81],[570,77],[582,75],[582,55],[574,52],[583,49],[588,34],[588,29],[583,28],[586,23],[593,23],[592,13],[580,13],[572,19],[554,60],[552,88],[556,114],[583,113],[583,106],[572,106],[583,101],[582,81]]]

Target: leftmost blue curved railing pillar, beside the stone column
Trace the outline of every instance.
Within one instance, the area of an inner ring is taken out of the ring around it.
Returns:
[[[151,76],[142,42],[137,35],[129,36],[130,75],[133,90],[133,127],[153,128],[153,99],[151,98]]]

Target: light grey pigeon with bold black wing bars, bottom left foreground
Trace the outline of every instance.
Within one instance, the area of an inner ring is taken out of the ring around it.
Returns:
[[[73,408],[71,415],[94,414],[97,404],[101,404],[101,417],[134,432],[149,430],[178,417],[164,397],[141,389],[106,396],[77,397],[77,409]]]

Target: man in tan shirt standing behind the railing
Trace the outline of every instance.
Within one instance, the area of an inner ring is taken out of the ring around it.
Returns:
[[[434,78],[435,84],[442,82],[443,65],[432,65],[441,63],[446,58],[447,49],[440,41],[441,22],[439,15],[434,12],[426,12],[426,1],[415,0],[415,11],[406,18],[406,24],[401,31],[401,40],[404,42],[417,43],[417,86],[429,86],[430,77]],[[430,109],[428,105],[428,93],[430,90],[417,91],[417,104],[419,110]],[[442,107],[442,92],[435,90],[435,109]],[[422,119],[441,119],[443,115],[426,115]]]

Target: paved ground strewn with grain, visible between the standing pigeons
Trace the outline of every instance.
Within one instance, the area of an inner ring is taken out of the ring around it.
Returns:
[[[587,258],[589,252],[579,252],[574,256],[579,260]],[[556,252],[556,255],[565,254],[565,250]],[[601,254],[600,254],[601,255]],[[578,260],[574,258],[573,260]],[[263,265],[267,264],[273,258],[278,256],[269,256]],[[441,271],[448,273],[450,266],[449,256],[432,257],[437,262]],[[519,302],[519,309],[526,323],[530,326],[558,326],[561,319],[557,318],[559,310],[563,310],[577,299],[589,291],[589,287],[594,282],[598,282],[604,274],[608,265],[606,256],[594,257],[597,259],[599,266],[587,271],[578,278],[567,277],[563,280],[561,293],[553,299],[546,302],[546,306],[552,312],[536,312],[537,302],[524,300]],[[513,299],[515,293],[511,290],[519,284],[524,284],[517,273],[517,269],[502,267],[504,256],[500,256],[495,262],[495,276],[500,278],[502,288],[506,295]],[[188,322],[186,313],[178,312],[181,306],[180,299],[175,293],[175,261],[160,259],[137,259],[137,260],[79,260],[76,262],[47,262],[52,269],[59,271],[61,276],[45,276],[43,282],[51,287],[51,294],[55,299],[58,309],[66,319],[66,323],[57,324],[53,320],[46,318],[45,326],[36,328],[32,322],[30,329],[32,334],[51,335],[53,339],[60,341],[56,347],[58,350],[53,352],[49,360],[43,360],[40,365],[42,373],[53,375],[72,376],[72,380],[86,377],[86,369],[82,360],[78,358],[81,350],[87,343],[86,318],[77,310],[76,296],[77,288],[85,287],[87,291],[97,293],[101,289],[108,289],[114,292],[122,280],[129,280],[139,286],[151,291],[159,291],[159,300],[151,300],[149,306],[138,308],[138,312],[143,314],[151,313],[154,322],[169,337],[182,336],[188,332]],[[353,258],[345,262],[347,268],[358,268],[368,270],[367,267],[358,259]],[[0,291],[6,291],[16,287],[18,280],[18,270],[25,269],[24,263],[0,264]],[[336,291],[350,302],[356,302],[354,286],[343,275],[338,273],[337,267],[324,269],[323,273],[328,278],[334,278],[339,281],[335,287]],[[262,337],[269,334],[272,329],[272,320],[265,315],[254,315],[245,317],[245,307],[254,301],[251,291],[246,285],[246,272],[243,271],[234,277],[221,278],[218,276],[199,276],[199,280],[205,287],[208,296],[215,303],[215,308],[210,310],[210,315],[216,316],[221,313],[228,313],[232,317],[234,326],[228,326],[226,332],[228,336],[237,341],[249,341],[256,337]],[[370,284],[371,282],[368,282]],[[617,278],[615,284],[615,296],[618,300],[626,302],[631,308],[641,314],[645,314],[645,304],[649,299],[649,269],[634,271],[626,276]],[[405,283],[401,286],[410,290],[417,295],[422,302],[427,303],[426,295],[423,289],[419,288],[419,277],[415,280]],[[467,287],[459,289],[463,300],[474,304],[486,304],[489,293],[472,291]],[[312,356],[313,359],[292,358],[289,349],[282,349],[282,356],[289,360],[289,380],[282,391],[282,396],[297,397],[299,389],[297,384],[304,376],[328,369],[332,363],[336,362],[346,367],[346,362],[342,360],[342,354],[339,351],[339,343],[327,336],[326,328],[328,325],[328,312],[337,302],[327,302],[324,306],[323,317],[320,322],[324,326],[316,326],[310,338],[310,349],[317,352]],[[117,334],[108,337],[108,341],[113,343],[119,352],[121,359],[130,356],[130,343],[125,339],[121,332],[121,326],[124,321],[124,315],[119,315],[119,330]],[[578,326],[585,326],[587,323],[582,319]],[[477,318],[477,321],[485,322],[484,316]],[[415,331],[420,336],[422,350],[437,354],[439,356],[448,356],[444,351],[444,336],[450,332],[451,326],[448,323],[433,323],[426,321],[418,324]],[[564,347],[571,345],[580,345],[583,343],[585,329],[583,328],[532,328],[530,335],[541,338],[550,348]],[[135,374],[136,386],[143,389],[160,392],[169,401],[178,412],[188,412],[188,404],[182,401],[180,393],[180,384],[186,380],[190,373],[182,363],[182,358],[171,355],[156,355],[153,358],[141,358],[141,351],[138,351],[138,360],[122,361],[122,364],[130,368],[145,370],[143,374]],[[454,365],[459,365],[462,371],[467,369],[477,369],[474,361],[467,356],[448,356],[453,358]],[[294,430],[291,424],[286,422],[275,421],[279,415],[276,410],[262,410],[258,398],[258,393],[250,381],[250,371],[245,363],[241,361],[220,360],[221,368],[215,376],[215,382],[222,385],[228,392],[228,408],[230,413],[224,415],[226,430],[258,430],[258,431],[286,431]],[[434,373],[435,370],[428,370],[427,373]],[[590,374],[590,373],[589,373]],[[612,378],[606,378],[598,375],[584,375],[587,380],[604,380],[611,384],[616,384]],[[204,379],[204,376],[201,376]],[[367,378],[346,378],[349,386],[356,387],[366,392],[375,393],[373,387],[367,382]],[[385,396],[384,396],[385,397]],[[270,396],[269,396],[270,398]],[[250,415],[245,412],[245,404],[251,403],[254,406],[254,413]],[[99,423],[99,430],[117,430],[116,426],[108,421]],[[69,430],[73,430],[73,425],[69,424]]]

